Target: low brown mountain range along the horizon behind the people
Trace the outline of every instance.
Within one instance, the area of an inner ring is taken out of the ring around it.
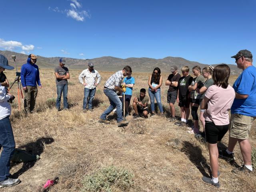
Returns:
[[[0,54],[6,56],[8,58],[9,64],[14,66],[14,60],[12,59],[12,55],[16,55],[16,65],[17,67],[22,66],[22,64],[26,63],[28,55],[21,54],[17,52],[11,51],[1,51]],[[36,64],[39,68],[54,68],[59,64],[60,57],[42,57],[37,56],[38,60]],[[192,72],[192,68],[195,65],[204,68],[205,66],[209,66],[206,64],[202,64],[199,62],[189,61],[181,57],[166,57],[163,59],[154,59],[154,58],[116,58],[116,57],[100,57],[94,59],[74,59],[74,58],[65,58],[66,66],[68,68],[77,68],[84,69],[87,68],[88,62],[94,63],[94,68],[101,71],[117,71],[122,69],[124,66],[129,65],[132,68],[133,72],[152,72],[155,67],[159,67],[161,72],[170,72],[170,66],[176,65],[178,68],[182,66],[189,66],[190,71]],[[218,64],[214,64],[216,66]],[[232,75],[238,75],[242,72],[242,70],[238,69],[236,65],[228,64],[231,69]]]

